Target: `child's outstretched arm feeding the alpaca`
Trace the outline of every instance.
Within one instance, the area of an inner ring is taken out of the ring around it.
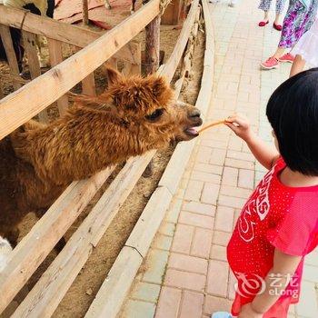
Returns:
[[[246,118],[241,115],[230,116],[225,124],[230,127],[236,135],[251,149],[256,160],[267,169],[271,169],[274,161],[279,157],[276,149],[263,142],[263,140],[253,133]]]

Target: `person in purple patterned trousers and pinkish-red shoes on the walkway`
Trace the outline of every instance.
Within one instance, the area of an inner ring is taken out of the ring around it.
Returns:
[[[277,68],[279,63],[293,63],[293,55],[284,54],[292,49],[298,40],[313,25],[318,9],[318,0],[290,0],[287,13],[283,19],[281,38],[273,56],[261,63],[264,70]]]

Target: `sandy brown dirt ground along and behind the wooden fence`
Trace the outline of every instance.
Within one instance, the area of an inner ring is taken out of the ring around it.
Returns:
[[[174,30],[171,26],[163,27],[161,32],[161,49],[164,50],[166,60],[171,55],[175,45],[175,39],[179,35],[180,30]],[[141,33],[136,37],[137,40],[143,41],[144,33]],[[73,49],[66,45],[64,50],[65,57],[71,55]],[[189,104],[195,104],[195,100],[200,88],[201,76],[203,71],[203,57],[204,57],[204,36],[199,33],[197,38],[197,45],[194,51],[194,67],[191,71],[190,78],[185,80],[185,84],[182,90],[181,100]],[[0,84],[3,87],[5,94],[9,94],[13,91],[12,83],[7,80],[4,76],[8,74],[8,68],[5,64],[0,63]],[[95,72],[95,80],[97,91],[104,89],[105,76],[102,70]],[[80,85],[76,87],[75,91],[80,90]],[[53,120],[56,116],[55,105],[50,107],[50,117]],[[55,318],[80,318],[84,317],[84,313],[88,310],[90,303],[94,300],[95,294],[98,292],[99,287],[104,282],[104,279],[111,269],[115,258],[124,246],[129,234],[134,228],[134,224],[137,222],[140,214],[143,212],[145,204],[151,194],[154,192],[161,175],[164,173],[164,168],[168,163],[171,154],[174,151],[174,146],[169,149],[158,151],[154,156],[154,172],[151,177],[142,176],[133,192],[129,195],[126,202],[120,209],[119,213],[114,217],[113,223],[109,226],[106,233],[104,234],[97,247],[89,257],[84,268],[78,274],[75,282],[65,294],[63,301],[56,309],[53,317]],[[114,179],[114,175],[118,173],[120,167],[114,172],[111,178],[104,184],[102,189],[94,196],[94,199],[85,209],[84,213],[80,215],[75,224],[70,228],[65,237],[69,237],[73,234],[76,228],[84,220],[90,209],[98,201],[99,197],[103,194],[104,189]],[[24,223],[22,224],[22,234],[25,235],[32,226],[35,224],[36,218],[34,214],[28,214],[25,217]],[[21,239],[20,237],[20,239]],[[45,262],[39,267],[36,273],[28,282],[28,288],[32,286],[40,278],[41,274],[45,272],[45,268],[54,260],[55,251],[50,253],[46,258]],[[19,301],[21,301],[19,297]]]

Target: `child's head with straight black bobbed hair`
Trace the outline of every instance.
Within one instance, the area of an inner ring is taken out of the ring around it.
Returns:
[[[287,166],[318,175],[318,68],[281,84],[273,92],[266,114]]]

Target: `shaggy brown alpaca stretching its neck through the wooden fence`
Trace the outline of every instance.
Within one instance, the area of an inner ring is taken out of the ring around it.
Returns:
[[[107,72],[104,94],[79,95],[54,123],[30,121],[0,141],[0,235],[13,245],[25,214],[45,211],[72,181],[197,135],[199,110],[176,103],[164,78]]]

